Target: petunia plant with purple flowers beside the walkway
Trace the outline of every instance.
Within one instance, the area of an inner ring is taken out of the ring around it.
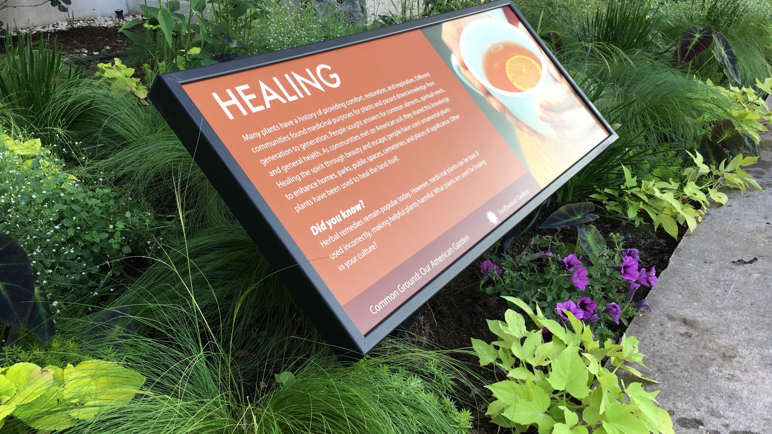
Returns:
[[[604,246],[591,262],[578,244],[566,244],[557,236],[535,236],[516,256],[486,255],[480,265],[480,287],[554,312],[560,321],[567,320],[561,308],[569,309],[595,334],[611,338],[615,326],[620,322],[626,326],[638,309],[648,308],[645,300],[632,303],[635,291],[657,283],[654,267],[638,267],[638,249],[624,249],[624,237],[617,234],[611,234],[611,241],[614,246]]]

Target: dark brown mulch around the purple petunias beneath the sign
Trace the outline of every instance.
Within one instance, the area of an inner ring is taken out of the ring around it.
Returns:
[[[543,210],[533,226],[514,240],[507,253],[516,255],[522,252],[533,236],[555,235],[557,229],[538,229],[541,222],[552,211],[554,209]],[[529,216],[523,219],[523,222],[527,224],[532,218],[533,216]],[[655,239],[648,235],[646,231],[652,232],[653,229],[650,225],[636,228],[635,225],[604,218],[593,223],[604,235],[607,242],[610,233],[620,233],[625,236],[624,246],[638,249],[641,254],[641,266],[647,269],[655,266],[658,275],[668,266],[670,256],[672,256],[675,247],[678,246],[678,241],[667,235],[661,228],[656,232],[656,236],[659,238]],[[683,232],[685,230],[681,229],[679,236],[682,236]],[[566,242],[574,242],[577,231],[574,228],[561,229],[560,236]],[[507,306],[506,301],[502,298],[482,293],[479,289],[479,264],[482,263],[482,260],[482,257],[476,259],[466,270],[455,276],[435,297],[432,297],[432,300],[429,300],[422,308],[418,320],[408,327],[405,337],[415,337],[418,341],[428,341],[436,344],[439,348],[450,349],[469,348],[471,346],[470,337],[476,337],[486,342],[495,341],[496,336],[489,331],[486,319],[503,318],[503,312]],[[635,293],[634,301],[644,299],[648,290],[646,287],[641,287]],[[656,306],[652,306],[652,309],[656,308]],[[505,377],[501,372],[496,375],[490,366],[480,367],[476,356],[456,354],[454,357],[468,362],[470,368],[486,378],[486,384],[501,381]],[[478,402],[478,405],[476,407],[466,405],[466,408],[475,416],[473,423],[477,434],[509,432],[509,429],[500,428],[489,422],[489,418],[485,416],[485,399],[481,398],[488,398],[490,395],[485,388],[482,388],[482,384],[477,386],[479,390],[472,392],[474,396],[469,397],[469,402]]]

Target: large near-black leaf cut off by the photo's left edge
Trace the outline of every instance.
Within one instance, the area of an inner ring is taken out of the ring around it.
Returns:
[[[34,296],[27,254],[12,236],[0,232],[0,322],[26,327]]]

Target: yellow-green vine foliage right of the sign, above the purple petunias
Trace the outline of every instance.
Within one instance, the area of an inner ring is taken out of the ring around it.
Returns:
[[[727,197],[718,189],[721,187],[736,188],[744,191],[748,186],[764,192],[753,177],[743,171],[743,167],[755,163],[758,157],[743,157],[738,154],[726,164],[721,161],[719,167],[703,162],[699,152],[689,153],[694,161],[694,167],[684,169],[682,178],[678,181],[655,181],[646,179],[638,184],[636,177],[624,165],[625,183],[621,188],[598,189],[591,198],[603,202],[605,208],[640,225],[644,222],[642,211],[648,214],[654,223],[654,229],[660,225],[673,238],[678,238],[678,225],[689,226],[694,231],[697,222],[702,221],[707,207],[708,198],[725,205]],[[645,214],[644,214],[645,215]]]

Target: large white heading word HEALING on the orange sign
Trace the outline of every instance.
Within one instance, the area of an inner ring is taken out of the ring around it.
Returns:
[[[244,108],[245,106],[249,108],[252,113],[256,113],[261,110],[271,108],[271,101],[274,100],[278,100],[281,101],[281,103],[286,104],[303,97],[310,97],[311,91],[309,90],[309,87],[326,92],[324,86],[340,86],[340,77],[337,74],[327,73],[327,76],[325,76],[325,73],[323,73],[322,70],[331,71],[332,68],[322,63],[317,66],[316,74],[311,72],[310,69],[306,68],[307,75],[303,73],[297,74],[293,71],[289,71],[289,73],[284,74],[283,79],[276,76],[271,77],[270,80],[273,80],[273,83],[267,79],[266,81],[268,81],[269,84],[266,84],[262,80],[257,80],[257,83],[252,83],[252,86],[254,86],[256,89],[259,88],[258,93],[261,94],[262,98],[255,93],[251,93],[252,88],[249,86],[249,83],[242,84],[241,86],[235,86],[234,90],[238,96],[233,93],[233,90],[225,89],[225,93],[228,94],[228,97],[225,100],[223,100],[216,92],[212,92],[212,97],[214,97],[215,101],[220,104],[220,107],[225,112],[225,114],[228,115],[229,119],[233,119],[232,110],[235,109],[239,109],[241,114],[246,116],[247,111]],[[289,76],[289,74],[292,74],[292,76]],[[294,92],[287,91],[290,89],[290,87]],[[300,88],[303,89],[302,92],[300,91]],[[279,95],[276,90],[279,90],[281,95]],[[306,94],[303,95],[303,93]],[[257,101],[253,103],[252,100]],[[258,102],[261,100],[262,104],[258,105]]]

